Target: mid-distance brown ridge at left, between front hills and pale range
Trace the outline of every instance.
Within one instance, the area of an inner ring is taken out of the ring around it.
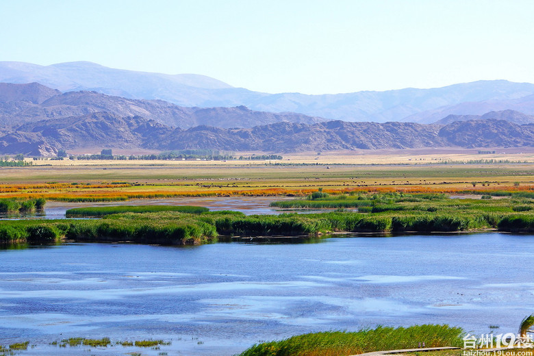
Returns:
[[[280,121],[318,123],[303,114],[257,112],[240,107],[181,107],[162,100],[136,100],[98,92],[59,92],[37,83],[0,83],[0,125],[15,127],[49,118],[108,112],[117,116],[142,116],[170,127],[199,125],[253,127]]]

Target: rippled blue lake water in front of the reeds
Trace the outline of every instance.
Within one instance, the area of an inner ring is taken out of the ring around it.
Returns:
[[[186,248],[64,244],[0,251],[0,344],[171,341],[142,355],[233,355],[261,340],[376,325],[516,332],[534,312],[534,236],[329,238]]]

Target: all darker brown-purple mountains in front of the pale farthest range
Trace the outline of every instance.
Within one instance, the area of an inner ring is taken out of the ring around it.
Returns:
[[[103,148],[280,153],[522,147],[534,142],[532,117],[520,112],[507,110],[457,119],[448,116],[443,123],[431,125],[316,122],[318,118],[301,114],[254,112],[246,107],[199,109],[97,92],[61,93],[36,83],[0,84],[0,153],[8,154],[55,155],[59,149],[98,152]],[[211,126],[199,125],[201,120]],[[262,121],[268,125],[214,127],[218,123]]]

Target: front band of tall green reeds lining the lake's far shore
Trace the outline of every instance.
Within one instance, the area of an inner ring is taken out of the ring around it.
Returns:
[[[522,225],[518,225],[518,219]],[[3,244],[79,242],[136,242],[141,244],[205,244],[227,236],[318,236],[335,231],[432,232],[470,231],[498,227],[501,231],[534,231],[525,213],[497,214],[331,212],[321,214],[184,214],[179,212],[125,213],[85,220],[16,220],[0,223]]]

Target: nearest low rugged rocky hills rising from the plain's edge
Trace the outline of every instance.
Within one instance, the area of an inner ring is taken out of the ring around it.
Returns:
[[[104,148],[217,149],[273,153],[424,147],[524,147],[534,142],[534,125],[505,120],[458,121],[449,125],[417,123],[346,123],[306,125],[275,123],[244,129],[201,125],[179,129],[140,116],[99,112],[42,120],[0,131],[0,153],[55,155],[59,149]]]

